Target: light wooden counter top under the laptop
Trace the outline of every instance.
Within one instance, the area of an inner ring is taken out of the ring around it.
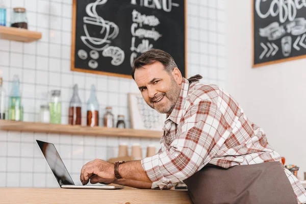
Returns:
[[[0,203],[191,203],[187,191],[0,188]]]

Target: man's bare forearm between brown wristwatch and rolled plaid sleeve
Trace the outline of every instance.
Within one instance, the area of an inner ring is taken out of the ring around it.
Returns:
[[[143,170],[140,160],[120,164],[118,171],[123,179],[152,184],[152,181]]]

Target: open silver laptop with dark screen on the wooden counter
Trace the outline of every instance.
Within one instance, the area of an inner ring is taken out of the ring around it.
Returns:
[[[54,144],[36,140],[47,164],[52,170],[56,181],[61,188],[77,188],[77,189],[122,189],[124,186],[96,186],[96,185],[74,185],[64,162],[62,161]]]

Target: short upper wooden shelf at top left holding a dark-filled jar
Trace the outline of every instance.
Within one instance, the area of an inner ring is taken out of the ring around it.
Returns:
[[[29,31],[27,29],[18,29],[0,25],[0,39],[33,42],[41,39],[41,33]]]

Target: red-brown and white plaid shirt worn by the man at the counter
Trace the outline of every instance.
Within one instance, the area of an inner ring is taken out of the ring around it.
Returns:
[[[223,168],[279,161],[264,130],[251,123],[235,99],[216,85],[203,85],[196,75],[183,78],[180,97],[166,118],[158,154],[144,158],[142,167],[152,188],[167,189],[213,164]],[[306,192],[284,169],[299,203]]]

